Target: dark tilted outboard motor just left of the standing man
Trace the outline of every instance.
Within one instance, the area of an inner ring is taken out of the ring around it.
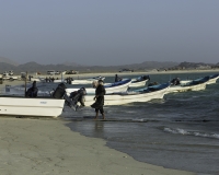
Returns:
[[[77,105],[78,102],[80,102],[81,106],[84,106],[84,95],[87,94],[87,91],[84,88],[81,88],[78,91],[71,92],[70,93],[70,98],[72,100],[73,104]]]

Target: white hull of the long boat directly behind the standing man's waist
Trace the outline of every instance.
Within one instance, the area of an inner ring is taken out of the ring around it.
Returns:
[[[163,98],[166,89],[150,92],[150,93],[139,93],[139,94],[107,94],[104,95],[104,105],[123,105],[134,102],[148,102],[154,98]],[[94,103],[94,95],[85,95],[85,106],[90,106]]]

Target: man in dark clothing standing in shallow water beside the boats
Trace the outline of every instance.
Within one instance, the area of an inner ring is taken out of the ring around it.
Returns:
[[[99,117],[99,112],[102,114],[103,119],[105,119],[105,114],[103,109],[105,93],[106,91],[103,85],[103,80],[99,80],[99,85],[95,90],[95,97],[93,98],[95,103],[91,105],[91,107],[95,108],[95,119],[97,119]]]

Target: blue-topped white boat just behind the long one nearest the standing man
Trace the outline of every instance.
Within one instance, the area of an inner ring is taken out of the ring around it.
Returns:
[[[122,81],[115,82],[115,83],[107,83],[104,84],[104,88],[106,90],[106,94],[114,93],[114,92],[126,92],[128,90],[128,86],[130,85],[131,80],[130,79],[123,79]],[[71,92],[78,91],[80,88],[69,88],[66,89],[67,94],[69,95]],[[94,88],[87,88],[88,94],[95,94]]]

